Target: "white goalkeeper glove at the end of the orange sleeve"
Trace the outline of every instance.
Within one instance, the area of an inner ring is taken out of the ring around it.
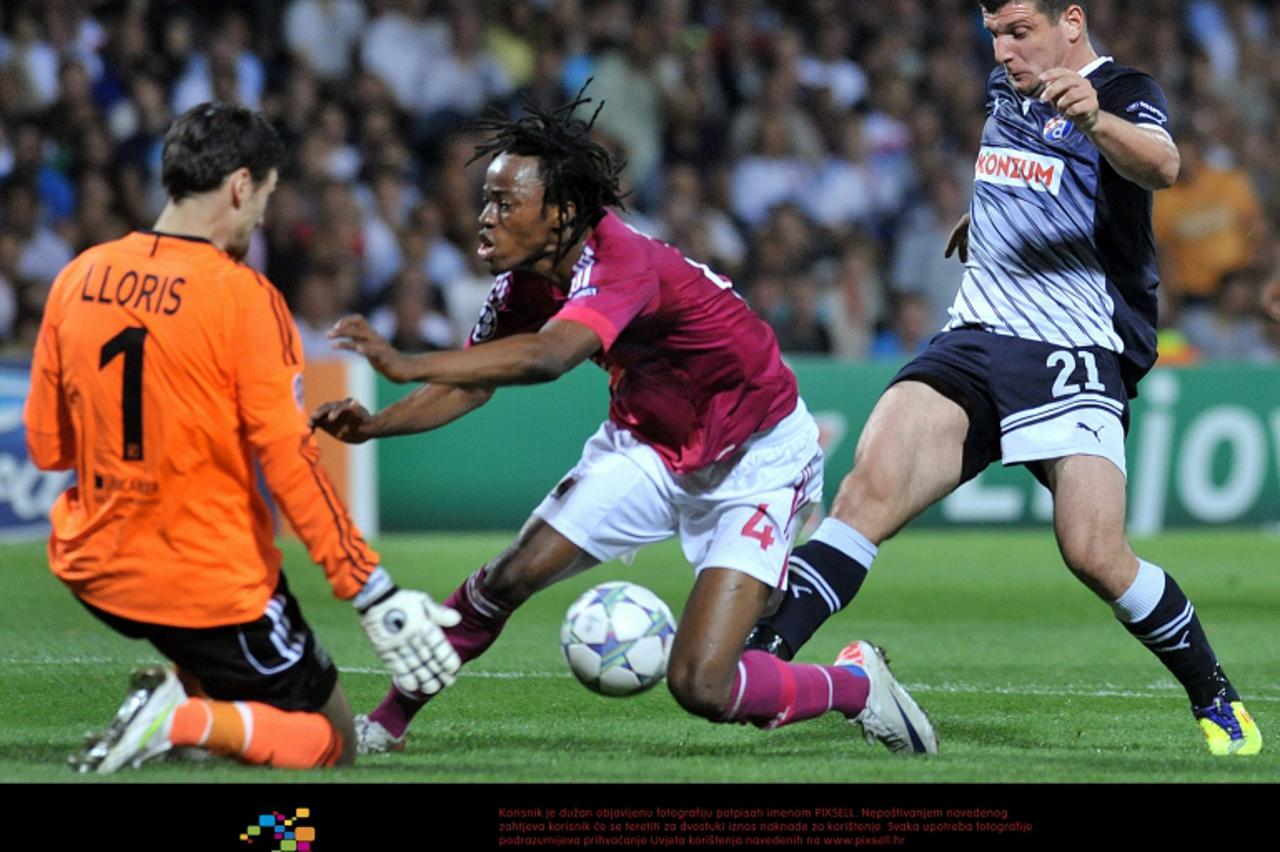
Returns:
[[[442,627],[462,617],[426,592],[398,588],[378,568],[352,601],[378,656],[403,692],[435,695],[453,683],[462,661]]]

